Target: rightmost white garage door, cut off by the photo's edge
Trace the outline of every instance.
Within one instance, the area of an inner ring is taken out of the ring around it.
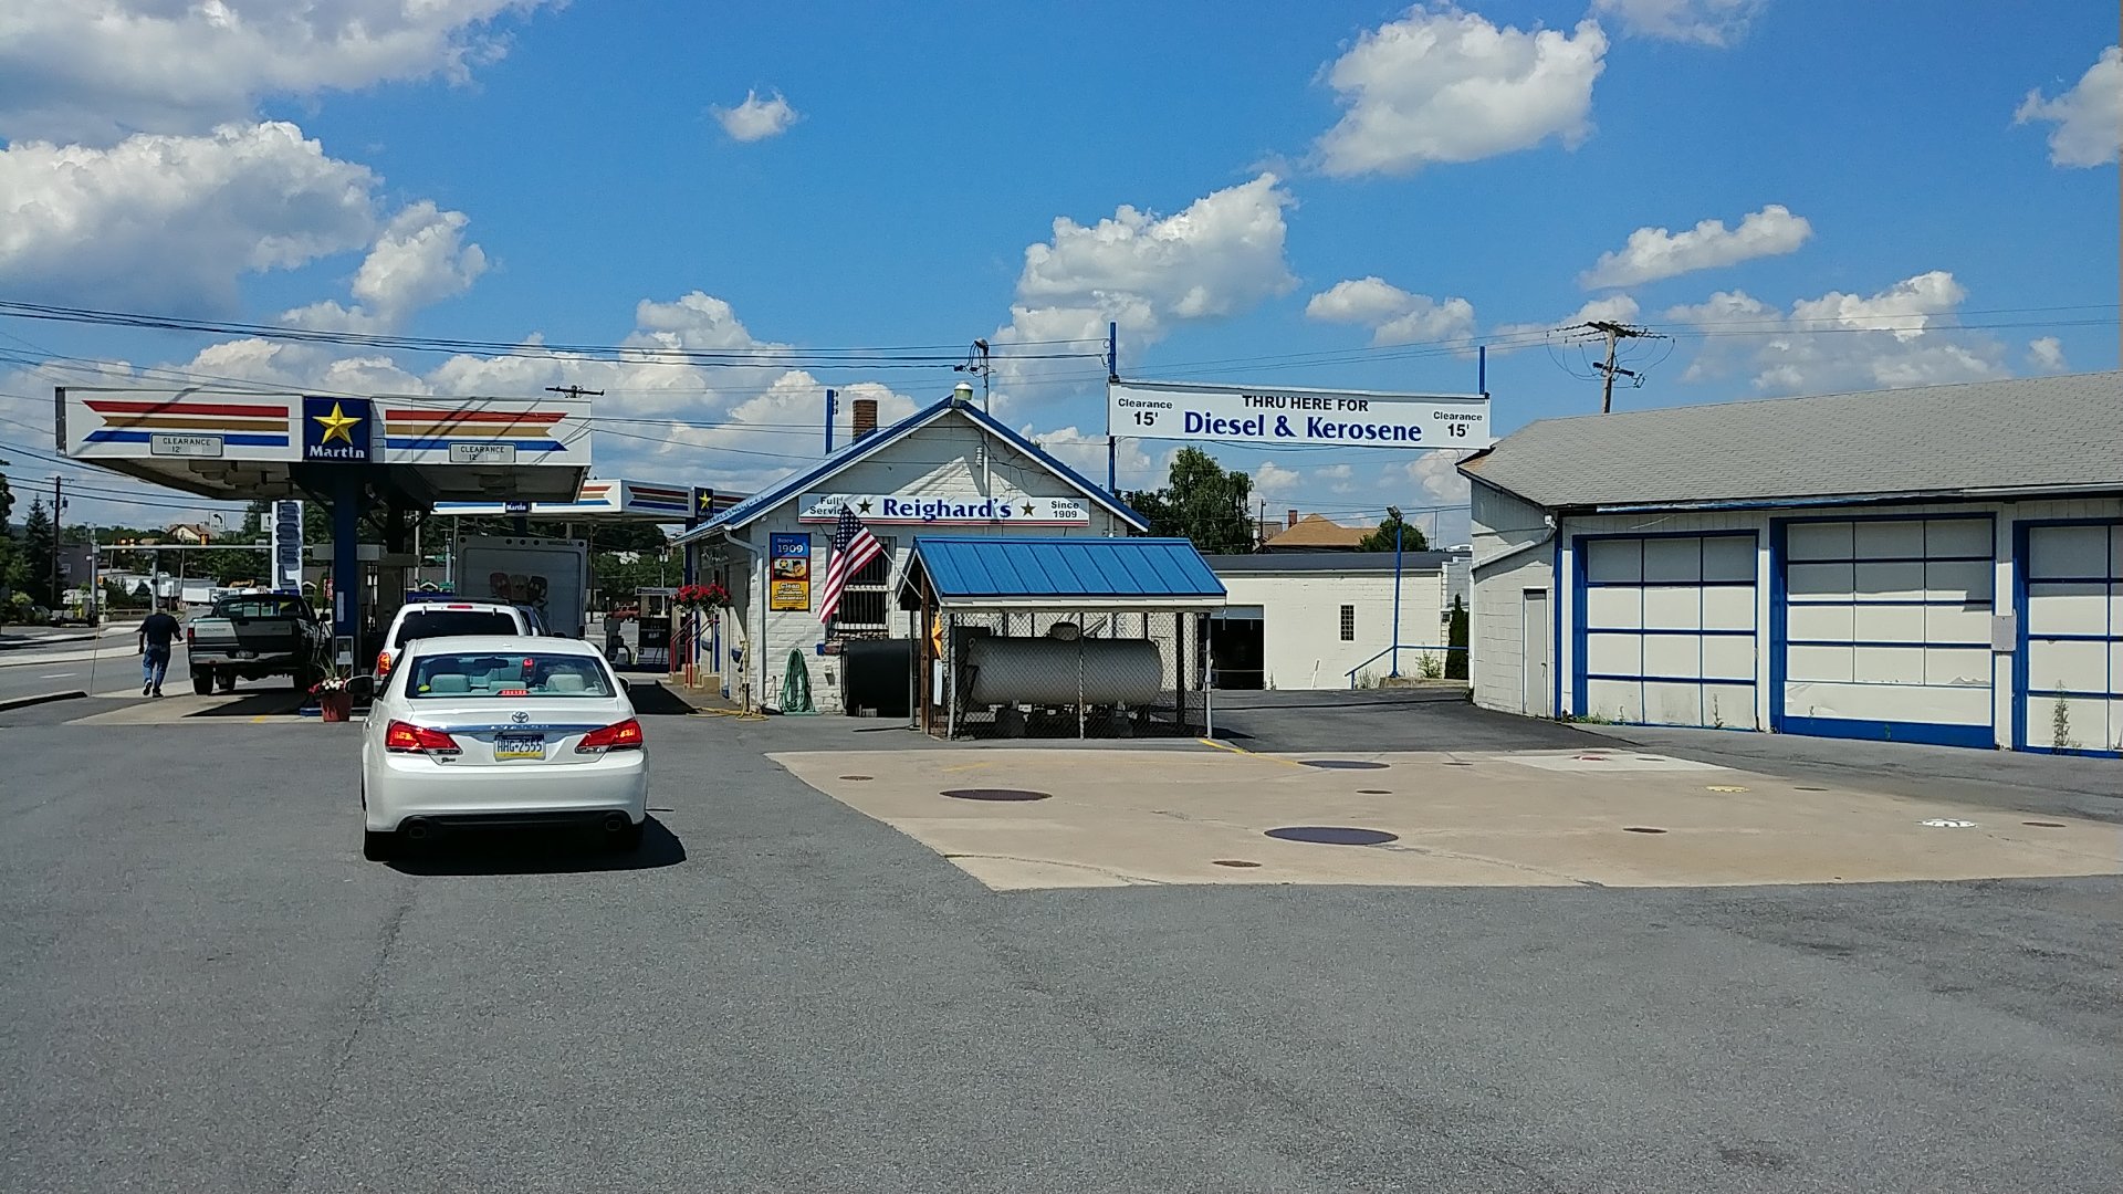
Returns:
[[[2123,752],[2123,523],[2021,527],[2019,744]]]

